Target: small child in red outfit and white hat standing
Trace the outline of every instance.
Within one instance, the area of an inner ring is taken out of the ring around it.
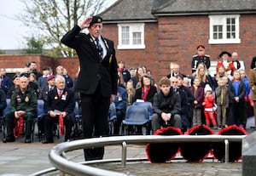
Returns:
[[[215,118],[213,116],[213,104],[214,104],[214,97],[212,95],[212,88],[209,85],[206,85],[205,88],[205,98],[204,101],[202,103],[202,105],[204,105],[204,113],[206,116],[206,122],[207,122],[207,126],[210,126],[210,120],[212,121],[212,125],[213,128],[217,129],[217,123],[215,121]]]

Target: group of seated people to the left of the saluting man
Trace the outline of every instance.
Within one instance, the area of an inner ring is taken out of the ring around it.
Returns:
[[[4,133],[5,131],[7,133],[3,142],[15,142],[23,133],[25,143],[32,142],[33,119],[38,117],[38,99],[44,101],[44,116],[38,119],[38,129],[42,128],[44,133],[43,144],[54,142],[54,123],[58,126],[59,133],[65,136],[64,141],[71,139],[75,123],[73,114],[75,96],[73,79],[68,76],[63,66],[57,66],[55,74],[49,66],[44,66],[41,74],[37,71],[36,62],[26,63],[26,67],[17,72],[12,81],[6,76],[5,69],[1,69],[0,74],[1,100],[3,100],[0,113],[4,116],[6,127]],[[9,111],[3,115],[7,99],[9,99]]]

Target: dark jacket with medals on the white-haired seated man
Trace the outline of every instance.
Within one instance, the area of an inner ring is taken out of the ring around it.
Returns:
[[[66,111],[68,114],[73,113],[75,107],[74,92],[69,88],[64,88],[61,98],[58,96],[57,88],[49,91],[45,101],[45,112],[48,111]]]

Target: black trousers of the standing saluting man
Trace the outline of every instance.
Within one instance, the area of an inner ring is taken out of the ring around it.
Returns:
[[[103,97],[99,88],[95,94],[80,94],[84,139],[108,136],[108,110],[110,97]],[[85,161],[101,160],[104,147],[84,149]]]

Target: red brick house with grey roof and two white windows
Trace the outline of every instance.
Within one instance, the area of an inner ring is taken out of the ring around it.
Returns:
[[[199,44],[212,65],[222,51],[236,51],[248,74],[256,55],[255,13],[252,0],[118,0],[101,15],[103,36],[113,39],[117,59],[128,68],[146,65],[160,78],[171,62],[190,74]]]

